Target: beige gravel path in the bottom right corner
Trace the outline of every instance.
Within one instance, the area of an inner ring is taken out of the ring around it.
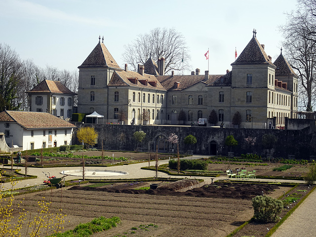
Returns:
[[[315,237],[316,233],[316,192],[303,203],[276,230],[272,237]]]

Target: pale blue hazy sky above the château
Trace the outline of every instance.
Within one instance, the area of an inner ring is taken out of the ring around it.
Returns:
[[[185,74],[208,70],[209,49],[209,74],[221,75],[232,69],[235,49],[238,56],[253,29],[274,62],[284,13],[296,5],[296,0],[0,0],[0,43],[42,68],[78,71],[101,35],[124,68],[124,45],[154,28],[174,28],[191,55],[192,69]]]

